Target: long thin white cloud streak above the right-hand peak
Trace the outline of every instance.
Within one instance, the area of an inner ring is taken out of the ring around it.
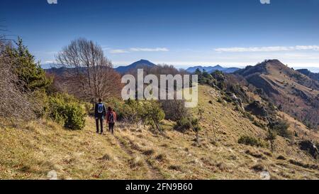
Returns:
[[[216,48],[217,52],[243,53],[243,52],[278,52],[293,50],[314,50],[319,51],[319,45],[296,45],[296,46],[269,46],[269,47],[233,47]]]

